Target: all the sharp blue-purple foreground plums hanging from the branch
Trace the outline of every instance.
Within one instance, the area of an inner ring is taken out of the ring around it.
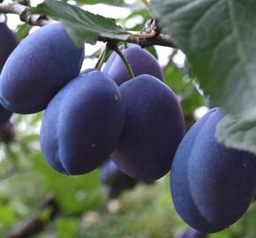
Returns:
[[[60,23],[41,27],[19,45],[1,23],[0,44],[1,123],[12,112],[44,110],[41,151],[50,167],[83,175],[110,157],[122,173],[143,182],[171,169],[178,214],[204,234],[245,213],[255,193],[255,156],[215,140],[221,108],[184,135],[177,96],[147,50],[124,46],[126,67],[117,49],[102,71],[80,71],[84,48],[74,46]]]

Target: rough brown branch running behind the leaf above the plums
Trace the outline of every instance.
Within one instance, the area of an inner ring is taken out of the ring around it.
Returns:
[[[29,7],[26,5],[19,4],[17,2],[9,2],[0,4],[0,13],[8,14],[17,14],[19,15],[19,19],[23,22],[26,22],[31,26],[45,26],[52,22],[54,19],[50,19],[46,16],[41,16],[37,14],[31,14],[29,12]],[[98,37],[98,41],[123,41],[122,39],[118,39],[118,36],[115,38],[108,37]],[[152,38],[139,38],[135,36],[129,37],[126,42],[135,43],[140,45],[142,48],[147,48],[153,45],[165,46],[170,48],[178,48],[177,42],[174,41],[169,35],[160,34]]]

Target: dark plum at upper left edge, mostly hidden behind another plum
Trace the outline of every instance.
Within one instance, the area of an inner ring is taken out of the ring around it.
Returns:
[[[4,67],[4,63],[11,55],[11,52],[18,45],[18,40],[14,33],[6,26],[5,23],[0,22],[0,72]]]

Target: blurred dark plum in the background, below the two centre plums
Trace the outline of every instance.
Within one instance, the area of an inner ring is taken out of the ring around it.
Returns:
[[[112,160],[107,160],[101,169],[102,183],[107,187],[109,198],[118,197],[124,190],[134,188],[138,180],[125,175]]]

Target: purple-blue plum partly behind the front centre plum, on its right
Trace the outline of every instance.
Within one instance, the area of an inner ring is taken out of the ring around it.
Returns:
[[[120,86],[126,119],[112,160],[126,175],[154,181],[169,172],[184,136],[184,116],[177,96],[151,75]]]

